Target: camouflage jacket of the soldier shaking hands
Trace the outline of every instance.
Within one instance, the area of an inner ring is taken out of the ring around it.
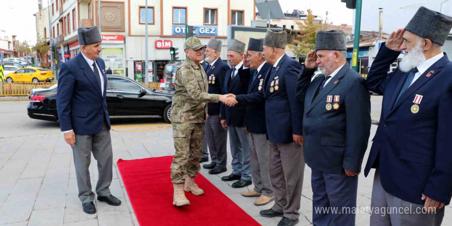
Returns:
[[[209,84],[204,69],[186,58],[176,71],[171,121],[203,123],[207,114],[206,102],[218,102],[220,95],[208,93]]]

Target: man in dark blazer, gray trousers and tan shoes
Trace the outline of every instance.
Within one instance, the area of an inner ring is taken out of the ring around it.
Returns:
[[[263,39],[250,37],[248,50],[243,59],[243,66],[250,67],[250,74],[240,74],[248,82],[248,94],[260,92],[263,80],[272,65],[265,62],[263,58]],[[251,77],[250,77],[251,76]],[[236,106],[240,106],[239,104]],[[273,188],[270,182],[270,156],[267,139],[267,127],[265,123],[265,103],[260,102],[246,106],[245,132],[248,134],[248,143],[251,159],[251,176],[254,189],[241,193],[244,197],[259,197],[255,205],[265,205],[273,201]]]

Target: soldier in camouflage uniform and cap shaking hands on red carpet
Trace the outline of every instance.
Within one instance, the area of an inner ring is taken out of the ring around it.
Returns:
[[[173,95],[172,125],[176,154],[171,164],[171,179],[174,184],[173,205],[190,205],[184,191],[202,195],[204,191],[195,183],[200,170],[206,102],[237,103],[226,95],[208,93],[208,81],[202,65],[201,41],[190,37],[184,42],[186,59],[176,72],[176,92]],[[185,182],[185,186],[184,186]]]

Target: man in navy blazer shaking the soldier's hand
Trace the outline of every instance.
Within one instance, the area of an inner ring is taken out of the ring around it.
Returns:
[[[275,204],[259,214],[283,217],[278,226],[298,223],[305,169],[303,104],[295,99],[296,78],[302,66],[285,54],[286,40],[286,31],[267,30],[263,53],[267,63],[273,67],[267,72],[261,91],[236,96],[242,105],[265,102],[270,180]]]

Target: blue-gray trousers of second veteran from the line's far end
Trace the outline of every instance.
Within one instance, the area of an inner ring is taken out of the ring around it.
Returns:
[[[242,175],[241,179],[251,180],[250,150],[248,136],[243,127],[228,126],[232,155],[232,173]]]

